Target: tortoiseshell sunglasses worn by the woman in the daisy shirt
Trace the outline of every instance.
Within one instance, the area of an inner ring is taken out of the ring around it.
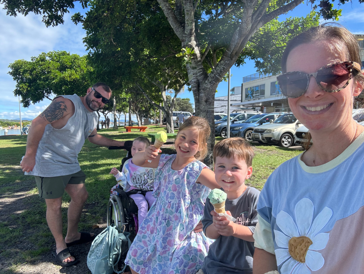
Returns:
[[[360,64],[356,62],[336,62],[321,67],[316,73],[306,74],[301,71],[290,71],[277,76],[282,93],[289,98],[297,98],[308,89],[311,76],[316,78],[317,85],[327,92],[344,89],[352,75],[360,72]]]

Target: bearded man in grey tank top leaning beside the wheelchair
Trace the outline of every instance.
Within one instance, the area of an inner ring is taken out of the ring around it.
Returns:
[[[27,149],[20,166],[25,175],[34,175],[39,196],[46,200],[47,223],[56,241],[52,252],[62,266],[75,265],[78,260],[70,254],[68,246],[90,242],[94,233],[78,232],[83,205],[88,192],[86,175],[77,157],[86,138],[96,145],[123,146],[124,142],[103,137],[96,132],[96,110],[108,103],[111,89],[96,83],[84,97],[62,95],[32,121],[28,133]],[[67,235],[62,235],[62,195],[71,197],[68,206]]]

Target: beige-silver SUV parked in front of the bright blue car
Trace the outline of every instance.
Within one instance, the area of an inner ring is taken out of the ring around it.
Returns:
[[[300,126],[302,124],[293,113],[286,113],[272,123],[265,123],[254,128],[252,141],[258,141],[260,144],[278,144],[289,148],[294,144],[294,133]]]

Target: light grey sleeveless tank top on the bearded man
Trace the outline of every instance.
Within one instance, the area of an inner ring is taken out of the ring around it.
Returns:
[[[39,142],[33,171],[25,175],[55,177],[69,175],[81,170],[77,160],[86,138],[96,128],[98,115],[83,105],[80,97],[62,95],[75,105],[75,113],[61,129],[48,124]]]

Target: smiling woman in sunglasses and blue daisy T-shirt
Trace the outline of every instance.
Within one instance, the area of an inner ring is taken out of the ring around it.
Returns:
[[[285,49],[278,82],[313,145],[278,167],[258,200],[253,273],[363,273],[364,127],[352,118],[364,88],[360,49],[323,24]]]

